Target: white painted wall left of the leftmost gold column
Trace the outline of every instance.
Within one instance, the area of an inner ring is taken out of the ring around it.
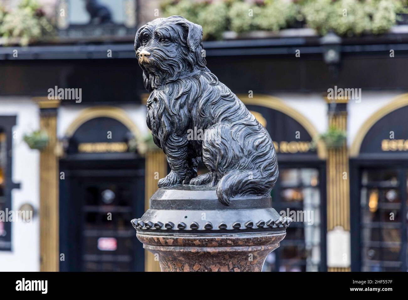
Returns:
[[[20,189],[11,194],[11,209],[17,211],[24,203],[31,204],[35,210],[40,206],[40,154],[31,150],[22,141],[25,132],[39,128],[38,105],[31,98],[2,97],[0,116],[16,115],[17,125],[13,128],[12,175]],[[40,270],[40,219],[34,216],[31,223],[13,222],[11,251],[0,251],[0,271],[39,271]]]

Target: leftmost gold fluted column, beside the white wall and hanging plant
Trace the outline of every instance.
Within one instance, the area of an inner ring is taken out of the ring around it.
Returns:
[[[40,130],[49,135],[47,147],[40,152],[40,271],[59,271],[59,175],[57,108],[60,100],[34,99],[40,107]]]

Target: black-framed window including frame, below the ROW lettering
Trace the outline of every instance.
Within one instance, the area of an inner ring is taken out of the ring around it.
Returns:
[[[326,161],[285,154],[278,154],[278,161],[272,206],[290,217],[290,212],[304,214],[297,214],[290,223],[280,247],[266,258],[263,271],[326,271]]]

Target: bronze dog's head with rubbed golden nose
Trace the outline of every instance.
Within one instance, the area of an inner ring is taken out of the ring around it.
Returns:
[[[204,70],[202,50],[202,27],[178,15],[140,27],[135,51],[146,89],[151,91],[195,70]]]

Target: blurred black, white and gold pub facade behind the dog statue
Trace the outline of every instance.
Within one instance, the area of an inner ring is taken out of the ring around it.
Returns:
[[[34,212],[0,219],[2,271],[158,270],[130,223],[167,172],[130,36],[155,11],[123,5],[137,14],[112,9],[103,27],[78,11],[63,42],[0,48],[0,211]],[[297,31],[204,49],[278,153],[273,205],[294,222],[264,271],[407,271],[408,33]],[[49,96],[59,88],[72,97]],[[49,140],[33,150],[23,137],[38,129]]]

